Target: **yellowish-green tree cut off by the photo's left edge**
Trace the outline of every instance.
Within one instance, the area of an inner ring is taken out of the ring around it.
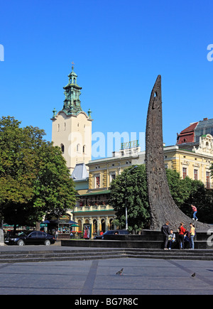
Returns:
[[[13,117],[0,120],[0,203],[27,202],[33,196],[33,153],[25,143],[21,123]]]

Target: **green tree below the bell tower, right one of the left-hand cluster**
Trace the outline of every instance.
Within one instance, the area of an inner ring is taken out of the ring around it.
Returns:
[[[62,157],[60,147],[45,143],[39,149],[39,170],[33,181],[31,205],[36,216],[60,216],[75,206],[74,182]]]

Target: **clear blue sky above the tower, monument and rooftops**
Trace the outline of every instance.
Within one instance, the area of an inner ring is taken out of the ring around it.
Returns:
[[[163,139],[174,145],[190,122],[213,118],[212,11],[206,0],[2,1],[0,116],[38,126],[50,141],[73,61],[93,132],[145,132],[160,74]]]

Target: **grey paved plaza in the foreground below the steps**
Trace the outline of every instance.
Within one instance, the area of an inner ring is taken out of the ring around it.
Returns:
[[[123,273],[116,275],[122,268]],[[0,273],[1,295],[213,294],[212,261],[119,258],[24,262],[0,264]]]

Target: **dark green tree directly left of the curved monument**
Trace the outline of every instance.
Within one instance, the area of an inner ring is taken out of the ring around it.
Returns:
[[[126,226],[126,205],[129,231],[138,232],[149,226],[146,166],[126,168],[111,183],[110,205],[116,212],[116,225]],[[131,171],[130,171],[131,170]]]

